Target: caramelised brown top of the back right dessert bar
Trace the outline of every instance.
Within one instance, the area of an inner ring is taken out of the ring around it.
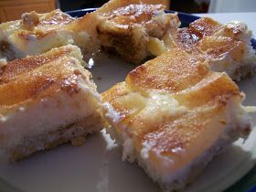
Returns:
[[[222,30],[219,36],[216,33]],[[197,19],[189,27],[178,29],[174,33],[174,45],[192,53],[197,59],[220,59],[229,54],[232,59],[241,59],[245,42],[237,39],[239,29],[221,26],[211,18]]]

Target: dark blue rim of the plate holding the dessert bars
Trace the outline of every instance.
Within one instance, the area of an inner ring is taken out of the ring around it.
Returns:
[[[95,11],[96,8],[87,8],[66,12],[70,16],[80,17],[84,16],[87,13],[91,13]],[[165,11],[166,13],[176,13],[174,11]],[[185,13],[177,13],[180,21],[181,27],[188,27],[190,23],[200,18],[199,16],[193,16]],[[256,49],[256,40],[254,38],[251,39],[252,48]],[[251,169],[251,171],[243,176],[239,182],[234,184],[229,189],[225,190],[225,192],[256,192],[256,166]]]

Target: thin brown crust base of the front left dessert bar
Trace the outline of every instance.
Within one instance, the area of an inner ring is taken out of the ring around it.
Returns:
[[[84,143],[87,134],[101,131],[101,128],[99,117],[88,116],[65,127],[59,127],[56,131],[28,136],[21,144],[6,153],[11,160],[16,161],[34,152],[48,150],[59,144],[71,142],[72,145],[79,146]]]

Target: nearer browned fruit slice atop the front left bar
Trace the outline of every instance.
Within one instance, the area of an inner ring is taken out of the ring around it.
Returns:
[[[56,60],[55,63],[45,64],[43,67],[19,75],[16,80],[2,84],[0,106],[15,105],[29,100],[39,101],[65,88],[65,84],[68,84],[66,81],[76,82],[78,77],[71,70],[65,69],[69,68],[68,65],[62,64],[70,61],[70,59]]]

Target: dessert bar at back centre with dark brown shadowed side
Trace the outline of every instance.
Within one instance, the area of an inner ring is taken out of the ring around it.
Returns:
[[[165,14],[165,5],[147,0],[111,0],[92,13],[96,33],[103,50],[120,55],[126,61],[140,63],[165,48],[162,37],[176,30],[176,14]],[[160,50],[159,50],[160,48]]]

